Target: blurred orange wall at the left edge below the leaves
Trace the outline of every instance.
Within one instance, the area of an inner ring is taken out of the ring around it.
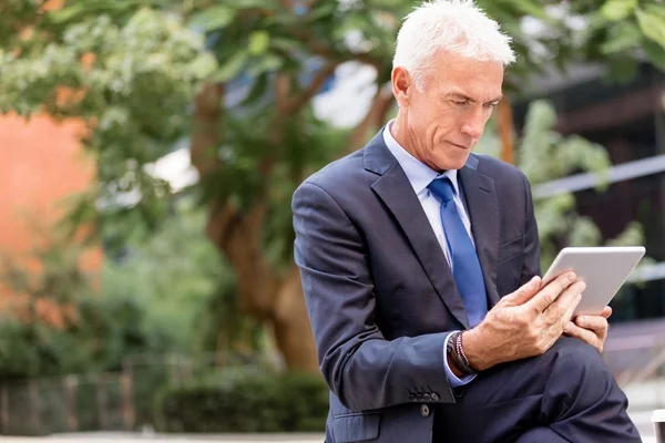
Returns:
[[[84,190],[94,178],[78,142],[80,128],[47,116],[30,122],[0,116],[0,253],[24,258],[48,241],[49,227],[64,214],[62,198]],[[84,268],[99,269],[101,249],[82,260]]]

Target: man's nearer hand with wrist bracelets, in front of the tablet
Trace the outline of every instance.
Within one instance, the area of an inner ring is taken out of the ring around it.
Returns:
[[[575,274],[566,272],[544,288],[534,277],[503,297],[480,324],[462,334],[471,368],[482,371],[544,353],[563,333],[585,288]]]

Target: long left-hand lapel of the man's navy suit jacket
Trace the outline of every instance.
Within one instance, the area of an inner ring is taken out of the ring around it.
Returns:
[[[413,188],[379,135],[366,147],[365,167],[381,176],[372,189],[392,213],[409,239],[418,260],[439,297],[454,318],[469,328],[469,320],[452,272]]]

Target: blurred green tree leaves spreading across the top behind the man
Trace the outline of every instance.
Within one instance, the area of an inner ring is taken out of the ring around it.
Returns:
[[[141,199],[134,212],[154,224],[166,210],[156,202],[170,189],[143,166],[191,134],[187,106],[202,83],[254,84],[239,110],[238,102],[228,103],[235,107],[224,116],[224,134],[215,151],[232,161],[204,179],[203,194],[221,202],[232,198],[241,206],[270,198],[273,183],[294,188],[307,171],[340,155],[348,143],[320,123],[316,134],[293,134],[305,122],[316,125],[316,120],[308,100],[287,115],[275,112],[278,76],[288,80],[288,99],[306,94],[310,76],[304,73],[311,72],[313,64],[361,61],[377,68],[378,85],[387,82],[401,19],[416,2],[316,2],[297,12],[276,0],[69,0],[62,10],[50,12],[40,11],[39,4],[12,0],[2,18],[10,28],[30,27],[32,32],[0,43],[0,110],[29,115],[43,109],[85,123],[83,138],[98,159],[99,186],[73,207],[76,223],[96,217],[83,207],[100,197],[113,202],[119,194],[137,192]],[[658,33],[665,27],[655,25],[665,17],[665,7],[655,0],[563,6],[552,0],[479,0],[479,6],[513,38],[519,56],[508,89],[519,89],[544,65],[563,66],[580,56],[615,62],[613,72],[625,78],[634,73],[630,61],[640,48],[665,66]],[[553,13],[552,7],[564,13]],[[565,12],[589,25],[576,31],[563,19]],[[540,20],[546,32],[524,34],[526,16]],[[94,60],[84,65],[86,54]],[[60,86],[84,93],[62,101]],[[294,144],[296,138],[299,143]],[[334,143],[332,148],[321,148]],[[566,151],[573,153],[575,144],[569,141]],[[286,199],[274,203],[275,210],[286,210],[277,209],[287,205]],[[126,220],[131,226],[137,218]],[[289,244],[290,234],[284,229],[267,230],[278,244]],[[284,257],[284,247],[273,249],[280,250],[273,255]]]

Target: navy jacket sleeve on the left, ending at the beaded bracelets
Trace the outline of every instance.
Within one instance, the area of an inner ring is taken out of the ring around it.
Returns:
[[[293,198],[295,260],[323,375],[341,404],[372,410],[409,402],[454,402],[446,377],[448,332],[386,340],[375,322],[368,248],[321,187]]]

